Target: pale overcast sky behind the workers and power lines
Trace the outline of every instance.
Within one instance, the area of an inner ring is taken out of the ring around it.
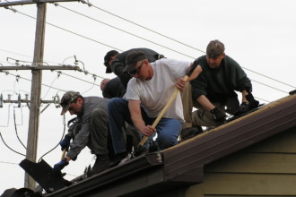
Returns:
[[[5,1],[2,0],[2,3]],[[111,49],[125,51],[133,47],[149,47],[180,60],[193,61],[205,55],[212,39],[220,39],[225,53],[235,59],[253,83],[253,92],[260,103],[281,99],[295,90],[296,13],[293,0],[150,0],[89,1],[83,3],[48,4],[45,33],[45,64],[74,65],[88,72],[44,71],[41,98],[62,97],[65,90],[77,90],[84,96],[101,96],[102,78],[106,74],[103,57]],[[0,66],[30,64],[34,52],[37,15],[36,5],[14,6],[17,10],[0,7]],[[33,17],[33,18],[31,18]],[[93,76],[95,74],[95,76]],[[20,77],[15,77],[19,75]],[[0,72],[0,92],[17,99],[30,94],[30,71]],[[95,79],[95,81],[94,81]],[[53,148],[63,135],[61,108],[43,104],[40,115],[38,159]],[[15,119],[13,118],[15,116]],[[72,118],[65,116],[66,121]],[[25,154],[29,108],[22,104],[4,104],[0,108],[0,132],[13,150]],[[15,120],[15,121],[14,121]],[[17,139],[17,133],[22,143]],[[9,150],[0,141],[0,194],[5,189],[22,188],[24,171],[18,164],[24,158]],[[44,159],[53,166],[61,156],[60,148]],[[93,163],[85,149],[77,161],[63,170],[71,180],[83,174],[84,167]]]

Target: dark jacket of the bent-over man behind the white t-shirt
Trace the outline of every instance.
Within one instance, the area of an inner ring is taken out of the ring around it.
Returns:
[[[130,50],[127,50],[125,52],[122,52],[121,54],[118,54],[116,56],[111,64],[112,72],[115,73],[122,84],[124,85],[125,89],[127,87],[127,82],[132,78],[128,73],[124,73],[124,69],[126,67],[126,56],[128,53],[132,51],[142,51],[147,56],[149,62],[154,62],[155,60],[159,59],[159,54],[149,48],[132,48]]]

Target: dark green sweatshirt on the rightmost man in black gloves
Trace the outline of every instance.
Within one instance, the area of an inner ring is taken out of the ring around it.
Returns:
[[[247,74],[230,56],[225,56],[216,69],[209,67],[206,56],[201,56],[195,61],[201,65],[203,71],[195,80],[190,81],[194,100],[205,95],[211,102],[226,102],[229,97],[236,95],[234,90],[252,90]]]

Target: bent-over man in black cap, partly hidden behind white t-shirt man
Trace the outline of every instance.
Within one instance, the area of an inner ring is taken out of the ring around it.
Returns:
[[[104,57],[106,73],[115,73],[120,78],[120,81],[125,88],[127,87],[127,82],[132,78],[132,76],[124,72],[124,69],[126,67],[126,56],[130,52],[137,50],[143,51],[146,54],[149,62],[154,62],[155,60],[164,57],[149,48],[132,48],[120,54],[116,50],[111,50]]]

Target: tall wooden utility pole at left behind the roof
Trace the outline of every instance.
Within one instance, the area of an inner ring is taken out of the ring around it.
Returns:
[[[47,3],[55,2],[73,2],[78,0],[25,0],[16,2],[0,3],[1,7],[7,7],[12,5],[21,4],[37,4],[37,21],[36,21],[36,33],[35,33],[35,47],[34,47],[34,59],[33,65],[41,67],[43,64],[44,53],[44,36],[46,25],[46,12]],[[30,117],[29,117],[29,129],[28,129],[28,141],[27,141],[27,153],[26,158],[30,161],[36,161],[37,158],[37,145],[38,145],[38,133],[39,133],[39,113],[40,113],[40,95],[42,84],[42,70],[32,69],[32,80],[30,89]],[[35,180],[27,173],[25,174],[25,187],[33,190],[36,187]]]

